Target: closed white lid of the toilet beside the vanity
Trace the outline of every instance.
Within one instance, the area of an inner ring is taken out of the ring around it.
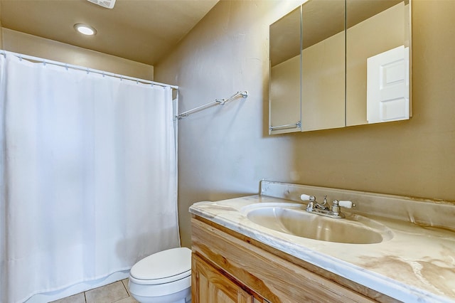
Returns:
[[[139,280],[151,280],[151,284],[182,279],[191,275],[191,250],[172,248],[156,252],[133,265],[129,274]]]

